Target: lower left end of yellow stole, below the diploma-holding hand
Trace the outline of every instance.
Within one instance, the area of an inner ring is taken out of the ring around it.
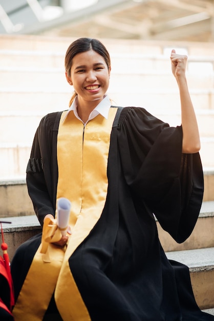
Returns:
[[[50,261],[43,259],[41,245],[34,255],[22,290],[13,309],[16,321],[41,321],[49,306],[61,268],[64,249],[49,245]]]

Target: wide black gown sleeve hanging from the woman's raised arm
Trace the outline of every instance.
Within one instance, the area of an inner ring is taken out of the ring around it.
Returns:
[[[169,127],[143,108],[124,108],[118,146],[126,183],[178,242],[191,234],[203,198],[199,153],[182,154],[182,127]]]

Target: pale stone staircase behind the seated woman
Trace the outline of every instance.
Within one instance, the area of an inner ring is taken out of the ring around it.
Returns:
[[[0,217],[12,258],[41,231],[28,196],[25,170],[35,130],[48,112],[65,110],[72,94],[63,59],[72,38],[0,36]],[[115,105],[141,106],[180,125],[180,101],[170,70],[170,48],[188,55],[187,78],[201,135],[205,192],[190,237],[177,244],[161,229],[168,258],[186,264],[197,303],[214,314],[214,90],[213,45],[103,39],[112,57],[109,95]],[[175,46],[175,47],[174,47]]]

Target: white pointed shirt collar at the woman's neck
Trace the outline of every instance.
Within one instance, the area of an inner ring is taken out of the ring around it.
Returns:
[[[82,122],[82,119],[79,117],[79,115],[77,113],[77,105],[78,105],[78,96],[76,96],[74,98],[74,101],[71,104],[71,107],[69,108],[69,110],[67,111],[67,113],[65,115],[65,118],[67,117],[69,112],[71,110],[73,110],[74,111],[74,115],[77,117],[77,119],[79,119]],[[110,110],[111,105],[112,104],[111,104],[111,101],[110,101],[108,95],[104,95],[102,101],[90,113],[88,121],[85,124],[83,122],[82,123],[84,125],[86,125],[89,121],[91,121],[91,119],[95,118],[99,114],[102,115],[105,119],[108,119],[109,110]],[[65,118],[63,119],[63,121],[65,120]]]

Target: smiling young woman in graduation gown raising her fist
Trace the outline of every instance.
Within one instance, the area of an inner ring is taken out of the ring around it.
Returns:
[[[70,108],[42,118],[27,167],[43,231],[12,261],[16,321],[214,320],[198,308],[188,268],[166,258],[154,219],[184,242],[203,197],[187,57],[173,50],[170,58],[181,97],[176,128],[143,108],[111,106],[110,56],[98,40],[68,48]],[[54,219],[60,197],[72,203],[66,236]]]

